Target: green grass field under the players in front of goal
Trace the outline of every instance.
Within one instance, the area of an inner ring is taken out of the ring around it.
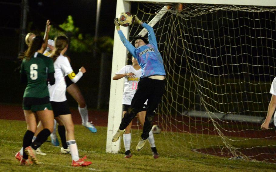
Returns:
[[[124,149],[119,154],[105,152],[106,127],[97,126],[96,134],[89,133],[81,125],[75,126],[76,141],[80,157],[87,155],[93,164],[88,167],[71,167],[71,156],[61,154],[60,147],[54,147],[50,142],[42,145],[41,149],[46,156],[38,155],[40,165],[19,166],[14,155],[22,145],[25,133],[25,121],[0,120],[0,171],[275,171],[275,164],[262,162],[249,162],[244,160],[228,160],[227,158],[212,155],[198,154],[190,149],[185,149],[177,156],[170,144],[162,144],[166,141],[163,134],[155,135],[156,145],[160,158],[153,159],[150,147],[147,144],[142,151],[134,150],[136,143],[132,145],[133,157],[125,159]],[[135,138],[133,138],[135,139]],[[181,142],[181,140],[176,140]],[[184,142],[184,141],[182,141]],[[171,143],[173,144],[173,143]],[[179,144],[179,143],[178,143]],[[183,143],[184,144],[184,143]],[[181,145],[181,144],[179,144]],[[186,143],[185,143],[186,145]]]

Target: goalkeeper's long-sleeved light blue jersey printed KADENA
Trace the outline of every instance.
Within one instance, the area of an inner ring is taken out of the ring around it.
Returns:
[[[157,41],[153,28],[146,23],[143,23],[142,26],[148,30],[149,44],[135,48],[129,41],[127,41],[121,30],[118,31],[120,39],[130,54],[137,59],[139,65],[141,66],[141,78],[153,75],[166,75],[162,56],[157,49]]]

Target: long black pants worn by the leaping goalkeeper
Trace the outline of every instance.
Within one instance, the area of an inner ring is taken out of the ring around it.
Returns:
[[[149,132],[153,124],[153,117],[155,110],[158,108],[158,104],[165,92],[165,80],[157,80],[151,78],[141,78],[138,82],[138,88],[131,101],[128,111],[124,115],[119,129],[125,129],[131,120],[136,116],[139,109],[143,108],[143,105],[148,99],[148,107],[146,108],[146,118],[143,127],[142,139],[146,140],[149,137]]]

